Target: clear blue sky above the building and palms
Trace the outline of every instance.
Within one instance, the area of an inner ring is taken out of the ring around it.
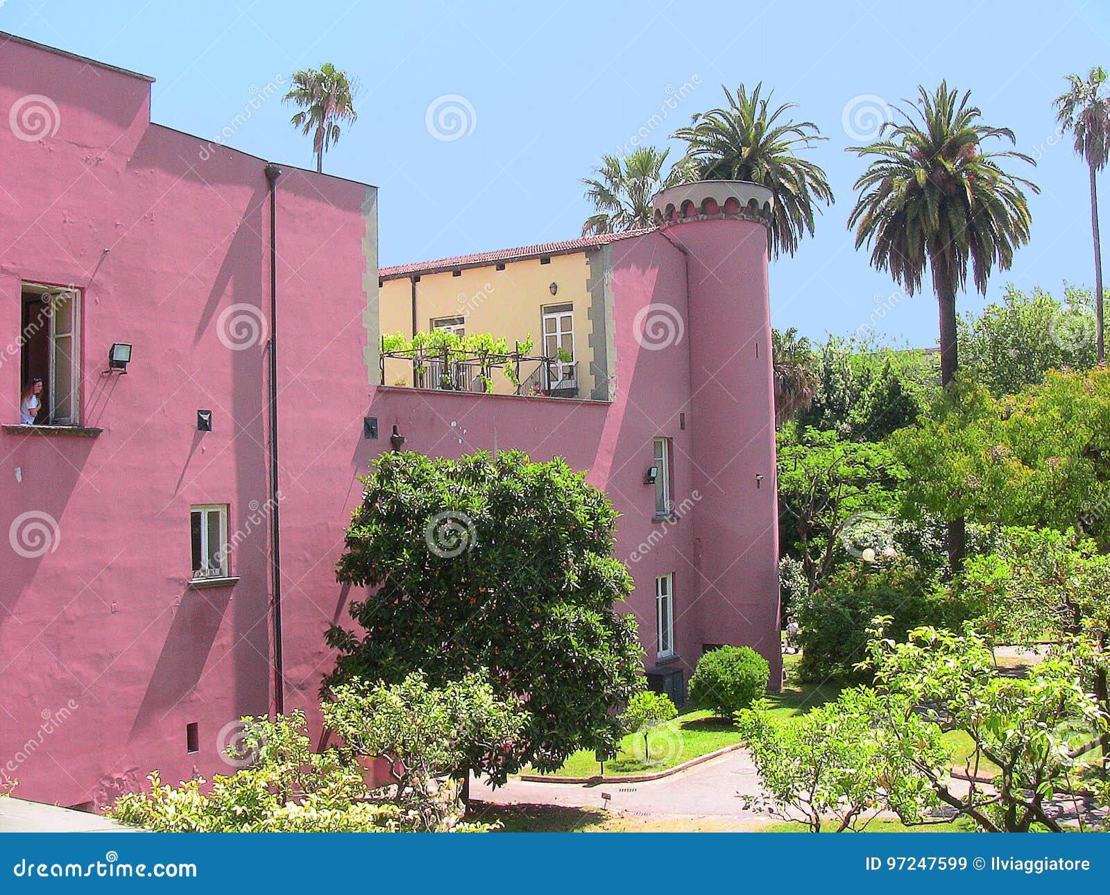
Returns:
[[[155,77],[154,120],[209,139],[242,112],[252,86],[265,92],[279,76],[287,82],[324,61],[347,69],[362,82],[360,119],[324,165],[381,188],[383,265],[575,237],[589,211],[579,179],[603,152],[640,129],[652,131],[646,142],[665,144],[690,114],[719,103],[722,83],[763,80],[829,138],[811,158],[837,195],[817,237],[773,265],[773,322],[813,336],[845,333],[885,304],[876,329],[926,345],[937,339],[931,293],[890,300],[894,284],[870,270],[846,230],[861,170],[844,152],[857,142],[844,127],[846,107],[850,113],[865,98],[848,130],[866,132],[868,103],[881,110],[942,78],[971,89],[986,120],[1011,128],[1018,148],[1040,159],[1023,172],[1042,189],[1030,201],[1032,240],[1011,271],[995,275],[988,300],[1008,281],[1054,292],[1064,280],[1089,285],[1086,169],[1070,141],[1054,137],[1051,101],[1068,72],[1110,67],[1108,7],[7,0],[0,29]],[[473,109],[463,107],[458,139],[434,139],[426,127],[430,103],[444,95]],[[677,108],[650,124],[668,100]],[[226,142],[312,167],[311,142],[291,130],[290,114],[270,100]],[[965,295],[961,304],[975,310],[982,300]]]

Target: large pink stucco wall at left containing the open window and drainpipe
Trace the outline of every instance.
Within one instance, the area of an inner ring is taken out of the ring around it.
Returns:
[[[28,94],[56,104],[57,132],[29,141],[7,127]],[[243,323],[269,316],[264,162],[149,124],[149,105],[141,79],[0,47],[0,340],[14,346],[0,421],[18,421],[20,283],[38,281],[82,291],[83,422],[103,428],[0,433],[0,772],[19,795],[65,805],[152,767],[226,771],[222,725],[270,707],[265,344],[221,316],[236,304]],[[285,595],[330,615],[357,499],[373,191],[287,169],[278,195]],[[102,375],[115,341],[133,343],[133,361]],[[213,412],[211,433],[198,409]],[[234,586],[186,584],[201,503],[230,504],[230,530],[244,532]],[[26,520],[11,533],[27,512],[56,525],[41,555],[9,549],[31,536]]]

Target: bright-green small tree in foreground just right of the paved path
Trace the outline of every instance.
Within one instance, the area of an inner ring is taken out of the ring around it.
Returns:
[[[858,688],[793,718],[776,718],[767,700],[737,712],[761,788],[745,808],[800,817],[813,833],[828,825],[837,833],[866,829],[891,805],[907,821],[922,822],[936,795],[912,773],[897,740],[875,723],[881,711],[875,691]],[[947,756],[937,731],[916,747],[930,764]]]

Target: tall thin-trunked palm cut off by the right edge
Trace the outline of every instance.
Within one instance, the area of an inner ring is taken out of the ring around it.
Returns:
[[[1107,73],[1096,67],[1084,81],[1069,74],[1071,89],[1056,98],[1057,121],[1076,137],[1076,152],[1087,162],[1091,178],[1091,235],[1094,239],[1094,318],[1099,363],[1106,360],[1102,343],[1102,249],[1099,244],[1099,194],[1094,174],[1110,158],[1110,98],[1101,93]]]

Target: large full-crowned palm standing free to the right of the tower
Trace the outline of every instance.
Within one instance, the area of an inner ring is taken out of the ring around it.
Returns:
[[[899,121],[884,125],[878,142],[850,147],[872,157],[856,181],[860,191],[848,225],[856,227],[856,248],[867,243],[871,265],[887,270],[909,294],[921,286],[926,268],[940,310],[940,380],[946,386],[959,363],[956,292],[971,271],[975,288],[986,294],[997,264],[1009,270],[1013,251],[1029,241],[1029,207],[1022,187],[1038,188],[1002,170],[1000,162],[1028,155],[1012,150],[982,152],[986,140],[1009,140],[1008,128],[983,124],[980,110],[941,81],[934,93],[918,88],[915,103],[898,109]],[[952,570],[963,561],[963,520],[948,525]]]

